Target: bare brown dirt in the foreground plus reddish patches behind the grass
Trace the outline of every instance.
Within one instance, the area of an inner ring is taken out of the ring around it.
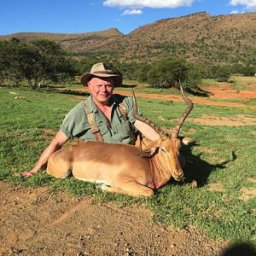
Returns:
[[[213,89],[211,93],[209,98],[193,97],[192,101],[245,107],[243,103],[214,102],[214,97],[256,98],[255,91],[230,91],[225,87]],[[183,101],[181,96],[140,93],[137,96]],[[211,122],[217,124],[220,118],[212,116]],[[202,122],[201,119],[195,121]],[[255,124],[255,119],[246,116],[222,119],[221,124],[234,125],[232,121],[241,121],[237,125]],[[3,182],[0,182],[0,201],[0,255],[3,256],[255,255],[250,248],[246,251],[246,247],[231,247],[229,241],[213,240],[193,227],[174,230],[156,224],[153,213],[143,207],[120,208],[113,203],[94,203],[91,197],[53,194],[47,188],[28,189]]]

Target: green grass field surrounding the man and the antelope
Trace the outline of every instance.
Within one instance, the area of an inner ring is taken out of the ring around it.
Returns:
[[[39,154],[58,131],[69,109],[81,97],[46,91],[0,88],[0,180],[24,186],[49,186],[72,195],[93,195],[98,201],[114,201],[121,207],[143,205],[154,211],[157,222],[185,228],[192,225],[212,237],[255,242],[255,125],[195,125],[202,114],[256,117],[251,108],[196,105],[182,135],[200,144],[183,154],[196,163],[185,167],[183,183],[172,181],[152,198],[131,198],[103,193],[93,183],[68,177],[58,180],[40,172],[30,179],[14,172],[30,170]],[[184,109],[183,102],[138,99],[141,111],[160,126],[172,128]],[[159,119],[158,117],[162,118]],[[191,183],[196,180],[198,188]]]

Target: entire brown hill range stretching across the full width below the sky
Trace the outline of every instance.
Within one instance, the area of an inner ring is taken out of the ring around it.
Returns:
[[[158,20],[124,35],[115,28],[84,34],[16,33],[1,38],[49,38],[78,55],[102,55],[126,62],[150,62],[164,56],[189,61],[252,63],[256,13],[212,16],[205,12]]]

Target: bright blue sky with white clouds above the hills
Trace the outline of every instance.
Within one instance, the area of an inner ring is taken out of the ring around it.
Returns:
[[[96,32],[125,34],[156,20],[207,11],[228,15],[256,11],[256,0],[0,0],[0,34]]]

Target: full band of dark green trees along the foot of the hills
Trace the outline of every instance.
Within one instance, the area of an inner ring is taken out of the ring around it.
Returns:
[[[179,81],[187,88],[196,88],[202,78],[228,81],[231,73],[247,76],[256,73],[255,65],[234,63],[232,66],[202,66],[171,56],[144,64],[113,61],[91,54],[76,58],[67,55],[61,45],[54,41],[40,39],[25,44],[12,38],[0,41],[0,84],[29,84],[32,89],[49,84],[64,84],[75,76],[90,72],[90,67],[96,62],[107,62],[124,79],[138,80],[158,88],[176,87]]]

